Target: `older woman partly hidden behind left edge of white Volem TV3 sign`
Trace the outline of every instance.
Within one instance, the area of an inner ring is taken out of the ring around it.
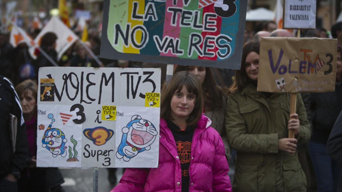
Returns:
[[[36,81],[30,79],[19,83],[15,87],[23,109],[23,117],[26,124],[28,154],[27,168],[18,180],[18,191],[36,192],[64,192],[61,184],[64,179],[58,168],[37,168],[37,92]]]

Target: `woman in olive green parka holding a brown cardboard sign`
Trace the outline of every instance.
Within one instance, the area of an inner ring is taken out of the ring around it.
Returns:
[[[310,140],[304,104],[290,113],[289,93],[257,92],[259,43],[247,42],[228,97],[225,128],[236,149],[234,192],[305,192],[297,149]],[[290,120],[293,117],[293,119]],[[292,129],[295,139],[288,137]]]

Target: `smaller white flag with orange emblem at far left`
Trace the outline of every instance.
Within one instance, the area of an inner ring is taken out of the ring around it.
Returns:
[[[32,58],[36,59],[37,56],[34,54],[37,44],[35,41],[24,31],[14,23],[12,24],[12,30],[10,35],[10,44],[16,47],[18,44],[25,42],[29,48],[29,53]]]

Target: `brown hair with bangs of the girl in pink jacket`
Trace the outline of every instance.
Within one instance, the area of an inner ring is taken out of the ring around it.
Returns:
[[[166,88],[163,89],[161,93],[160,116],[163,119],[173,120],[171,116],[171,99],[175,92],[180,92],[182,90],[183,85],[189,93],[196,95],[194,109],[186,120],[187,125],[194,126],[197,124],[202,114],[203,96],[198,78],[187,71],[181,71],[174,74]]]

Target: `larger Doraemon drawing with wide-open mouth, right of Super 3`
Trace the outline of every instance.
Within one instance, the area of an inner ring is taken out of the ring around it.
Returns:
[[[133,115],[126,127],[122,128],[121,142],[116,152],[118,159],[128,162],[132,157],[145,150],[150,150],[150,145],[158,134],[156,127],[140,115]]]

